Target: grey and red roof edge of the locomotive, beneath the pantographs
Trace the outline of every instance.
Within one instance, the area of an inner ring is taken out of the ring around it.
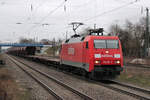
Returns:
[[[76,37],[76,38],[70,38],[65,41],[65,43],[77,43],[82,41],[88,41],[90,39],[119,39],[118,36],[91,36],[88,35],[86,37]]]

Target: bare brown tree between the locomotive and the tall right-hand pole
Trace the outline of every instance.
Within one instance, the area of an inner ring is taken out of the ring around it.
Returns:
[[[121,28],[116,24],[111,25],[110,32],[119,33],[118,37],[122,43],[122,49],[125,56],[142,56],[142,41],[144,28],[142,27],[142,22],[139,21],[133,24],[129,20],[126,20],[125,28]]]

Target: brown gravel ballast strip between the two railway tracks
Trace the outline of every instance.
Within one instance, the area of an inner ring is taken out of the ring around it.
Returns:
[[[35,62],[30,62],[27,60],[23,60],[23,61],[34,68],[37,68],[41,71],[46,72],[49,75],[52,75],[53,77],[80,90],[81,92],[84,92],[85,94],[93,97],[96,100],[135,100],[135,98],[132,98],[130,96],[118,93],[116,91],[113,91],[111,89],[105,88],[103,86],[91,82],[77,79],[73,76],[64,74],[60,71],[56,71],[54,69],[45,67],[45,65],[37,64]]]

